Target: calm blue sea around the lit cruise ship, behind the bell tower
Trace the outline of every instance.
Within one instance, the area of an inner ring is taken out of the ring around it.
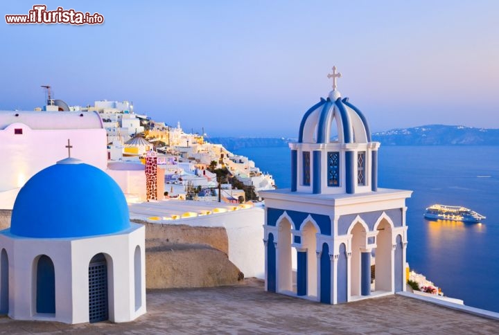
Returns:
[[[288,147],[246,148],[279,188],[290,187]],[[499,147],[380,147],[378,185],[413,190],[407,200],[411,269],[446,296],[499,312]],[[433,203],[471,208],[483,224],[427,221]]]

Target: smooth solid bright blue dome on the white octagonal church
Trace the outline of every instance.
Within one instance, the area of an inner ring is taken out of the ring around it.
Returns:
[[[10,233],[24,237],[86,237],[130,228],[119,185],[105,172],[64,159],[33,176],[12,210]]]

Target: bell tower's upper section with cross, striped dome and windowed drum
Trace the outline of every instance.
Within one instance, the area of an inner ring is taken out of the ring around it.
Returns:
[[[298,142],[291,143],[291,190],[313,194],[375,192],[378,147],[367,118],[349,98],[342,98],[333,73],[333,91],[320,98],[301,119]]]

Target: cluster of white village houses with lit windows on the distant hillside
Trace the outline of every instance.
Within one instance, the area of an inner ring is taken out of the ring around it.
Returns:
[[[274,188],[272,176],[253,161],[209,143],[206,134],[184,132],[180,122],[172,127],[136,114],[128,101],[96,101],[86,110],[103,119],[110,161],[144,163],[147,152],[157,152],[166,197],[234,203],[258,201],[260,190]]]

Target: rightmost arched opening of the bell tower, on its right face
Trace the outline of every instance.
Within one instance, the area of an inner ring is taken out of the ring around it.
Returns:
[[[383,219],[376,228],[376,257],[374,266],[374,287],[376,291],[393,290],[392,282],[392,226]]]

